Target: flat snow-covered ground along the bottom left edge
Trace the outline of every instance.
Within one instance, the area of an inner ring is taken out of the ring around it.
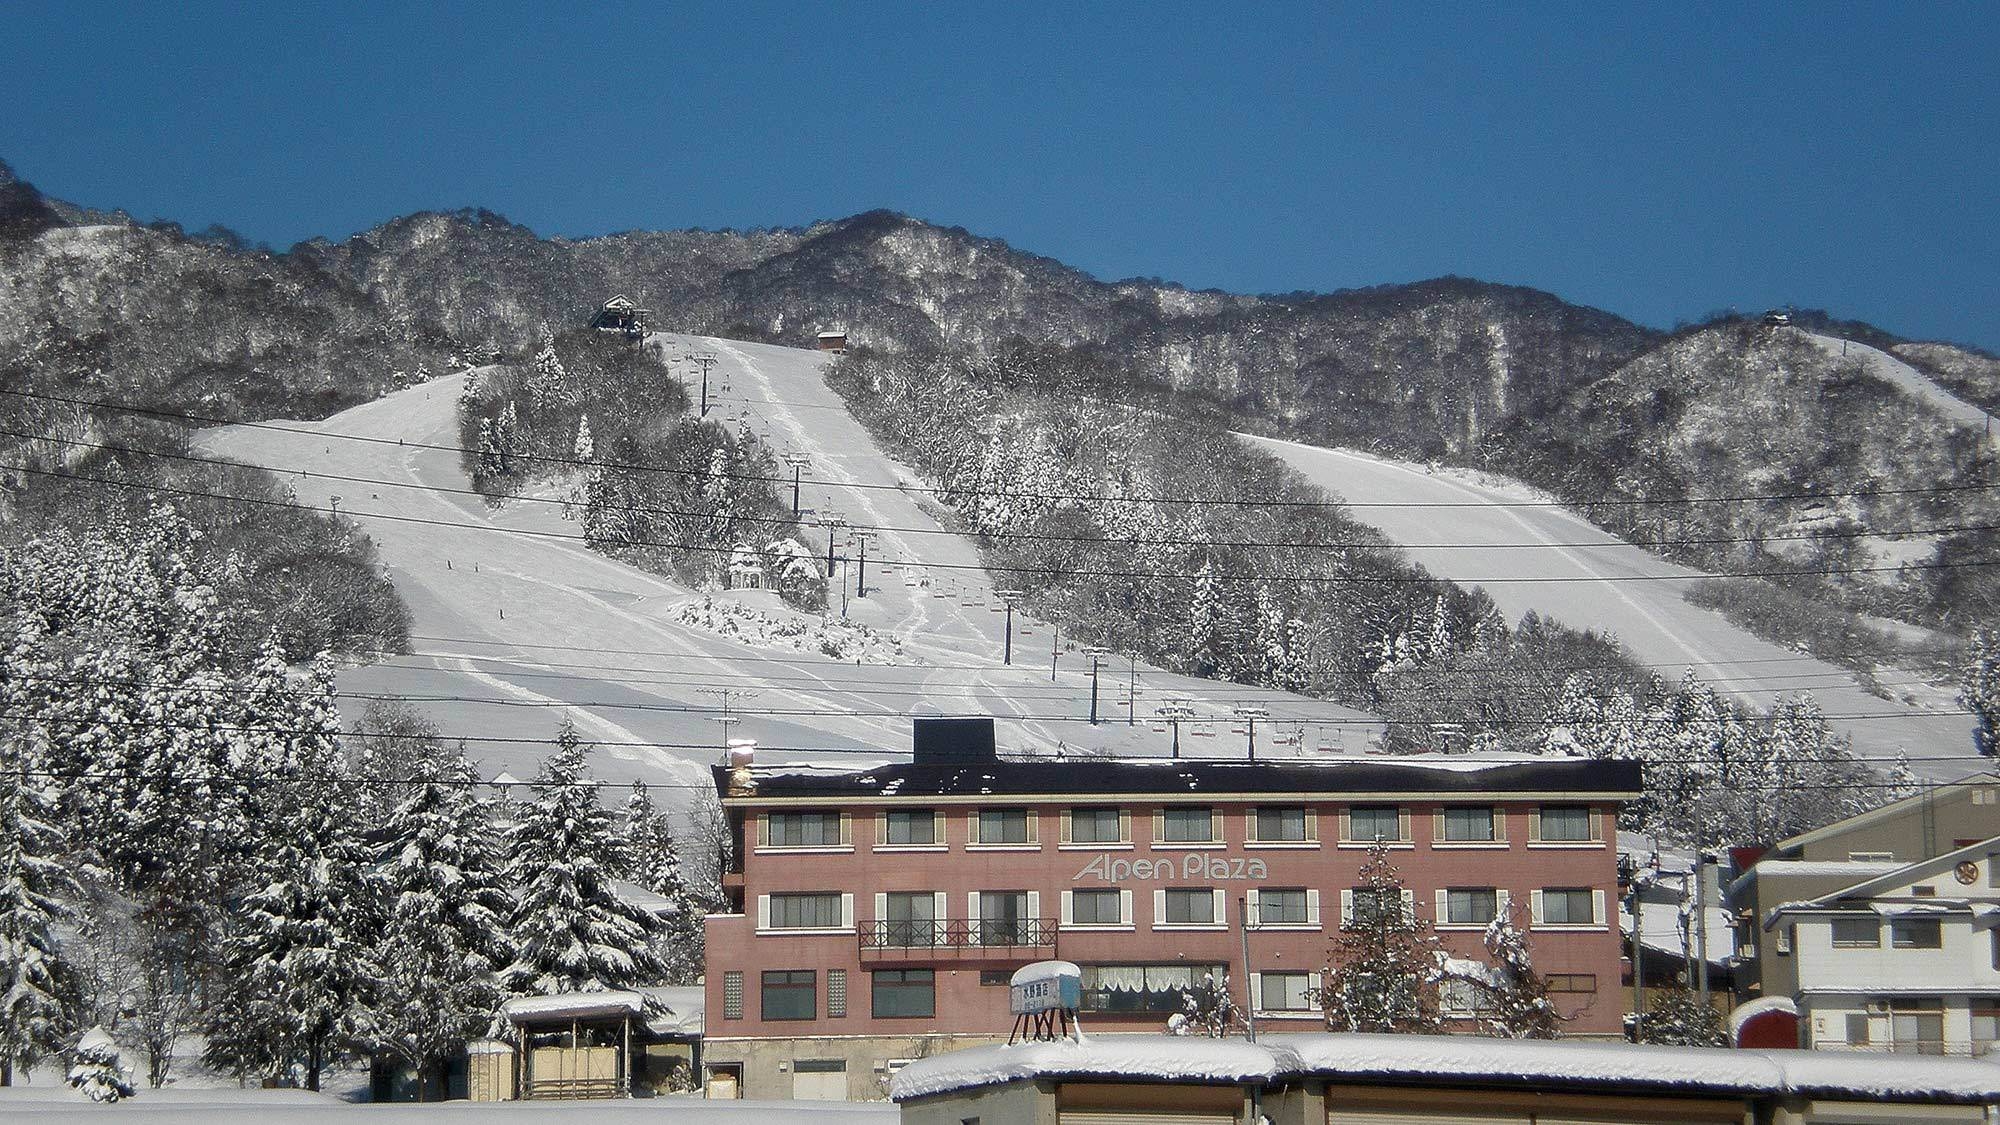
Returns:
[[[148,1091],[114,1105],[96,1105],[58,1087],[0,1089],[0,1119],[60,1125],[68,1121],[190,1121],[200,1125],[306,1125],[370,1121],[432,1125],[454,1121],[578,1121],[588,1125],[894,1125],[890,1103],[844,1101],[702,1101],[696,1097],[638,1101],[442,1101],[430,1105],[348,1105],[296,1089]]]

